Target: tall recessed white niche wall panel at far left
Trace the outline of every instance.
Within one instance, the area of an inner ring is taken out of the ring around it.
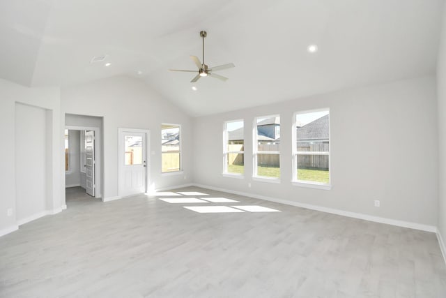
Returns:
[[[32,125],[29,125],[32,119]],[[47,111],[15,104],[15,198],[17,221],[47,210]]]

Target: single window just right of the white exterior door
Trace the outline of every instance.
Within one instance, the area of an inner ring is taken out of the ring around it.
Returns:
[[[177,124],[161,126],[161,172],[181,170],[181,127]]]

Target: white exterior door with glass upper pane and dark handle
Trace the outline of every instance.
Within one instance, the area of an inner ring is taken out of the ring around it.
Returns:
[[[146,192],[146,133],[121,131],[119,134],[119,195]]]

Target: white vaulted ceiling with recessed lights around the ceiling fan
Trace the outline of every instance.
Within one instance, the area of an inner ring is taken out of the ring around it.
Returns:
[[[192,116],[435,73],[443,0],[0,0],[0,77],[139,77]],[[192,84],[190,55],[233,62]],[[307,46],[319,51],[309,54]],[[93,56],[107,61],[90,64]],[[142,70],[143,75],[137,75]],[[191,87],[196,86],[197,91]]]

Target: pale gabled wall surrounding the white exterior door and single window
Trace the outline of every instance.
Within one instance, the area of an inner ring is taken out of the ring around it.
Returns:
[[[144,82],[131,77],[111,77],[63,88],[61,109],[68,114],[103,117],[103,197],[118,195],[118,128],[151,131],[151,184],[165,188],[192,182],[192,121],[178,107],[164,100]],[[179,175],[161,175],[161,124],[181,124],[183,169]]]

